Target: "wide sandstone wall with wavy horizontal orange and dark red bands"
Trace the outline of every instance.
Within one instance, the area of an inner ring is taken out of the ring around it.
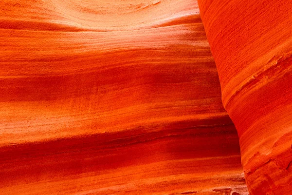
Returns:
[[[195,0],[0,1],[1,195],[247,195]]]

